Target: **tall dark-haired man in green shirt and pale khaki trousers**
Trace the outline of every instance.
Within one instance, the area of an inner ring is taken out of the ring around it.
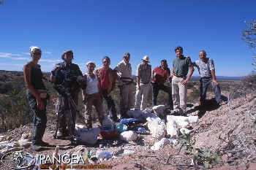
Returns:
[[[181,115],[187,112],[187,81],[194,72],[191,60],[183,55],[183,48],[178,46],[175,49],[176,58],[173,60],[173,69],[171,72],[172,90],[173,90],[173,106],[178,109]],[[190,70],[190,72],[189,72]],[[189,72],[189,76],[187,73]]]

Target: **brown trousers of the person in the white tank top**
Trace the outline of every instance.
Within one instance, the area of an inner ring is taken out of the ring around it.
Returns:
[[[96,109],[98,120],[100,125],[102,125],[102,122],[105,118],[103,113],[103,106],[102,106],[102,98],[100,97],[100,93],[93,93],[93,94],[86,94],[87,98],[87,104],[85,105],[85,114],[86,114],[86,126],[91,128],[92,124],[92,106]]]

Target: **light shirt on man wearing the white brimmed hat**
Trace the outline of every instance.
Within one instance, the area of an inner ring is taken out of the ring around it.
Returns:
[[[143,65],[143,63],[138,64],[136,70],[136,76],[140,77],[140,82],[148,83],[151,77],[151,65]]]

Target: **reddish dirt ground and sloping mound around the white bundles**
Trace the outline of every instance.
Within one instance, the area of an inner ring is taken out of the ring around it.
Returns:
[[[197,115],[194,104],[188,104],[188,116]],[[223,106],[214,106],[208,109],[205,115],[200,117],[197,123],[192,124],[192,139],[195,147],[208,147],[211,151],[222,152],[222,163],[210,166],[209,169],[256,169],[255,150],[255,118],[256,118],[256,94],[250,94],[245,98],[237,98],[227,102]],[[138,132],[138,127],[146,128],[146,132]],[[33,155],[37,153],[52,155],[55,147],[60,147],[59,152],[67,152],[76,147],[69,140],[53,139],[52,133],[55,125],[48,125],[43,140],[49,142],[49,147],[42,152],[34,152],[24,149]],[[108,164],[112,169],[205,169],[203,165],[192,163],[192,157],[184,154],[181,142],[178,145],[166,145],[160,150],[153,151],[151,146],[157,142],[146,123],[139,123],[132,130],[138,134],[134,142],[123,142],[117,136],[113,139],[98,139],[97,144],[84,145],[88,150],[105,148],[113,153],[118,150],[133,150],[132,154],[116,155],[115,158],[105,159],[95,163]],[[31,125],[26,125],[8,131],[6,134],[15,139],[20,139],[21,134],[30,133]],[[3,135],[3,134],[1,134]],[[2,164],[0,169],[6,169]]]

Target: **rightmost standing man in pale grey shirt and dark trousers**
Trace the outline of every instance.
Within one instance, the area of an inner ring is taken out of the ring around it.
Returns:
[[[200,60],[193,63],[197,67],[200,75],[200,113],[206,112],[206,92],[208,85],[214,89],[215,99],[218,104],[222,105],[222,96],[219,88],[219,82],[215,76],[214,61],[211,58],[206,58],[206,51],[199,52]]]

